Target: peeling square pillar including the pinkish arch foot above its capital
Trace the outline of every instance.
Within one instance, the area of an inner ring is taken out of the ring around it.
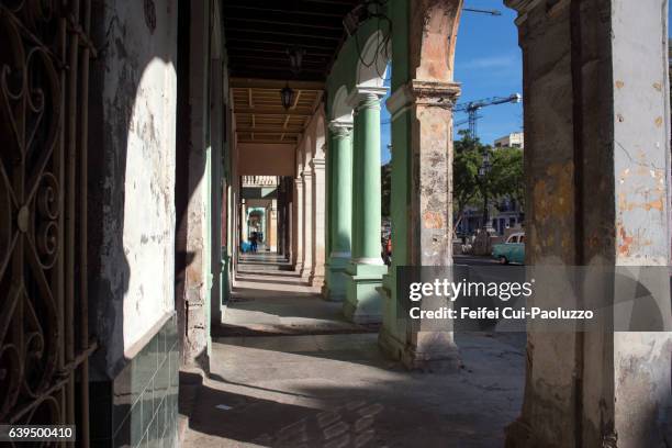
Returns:
[[[393,21],[407,26],[395,26],[392,42],[393,265],[382,288],[379,344],[410,368],[455,369],[460,361],[451,322],[412,321],[395,283],[401,266],[452,265],[452,107],[460,92],[452,59],[461,1],[395,5]]]

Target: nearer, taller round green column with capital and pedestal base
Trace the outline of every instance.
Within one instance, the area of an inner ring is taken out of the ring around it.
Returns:
[[[352,246],[346,269],[344,313],[356,323],[380,322],[377,288],[388,271],[380,256],[380,100],[387,88],[358,88],[350,98],[355,108],[352,163]]]

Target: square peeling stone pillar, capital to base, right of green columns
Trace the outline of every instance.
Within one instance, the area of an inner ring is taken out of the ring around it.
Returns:
[[[405,192],[393,191],[394,267],[452,265],[451,108],[459,92],[459,85],[453,82],[412,80],[388,100],[394,125],[403,126],[410,144],[403,147],[393,143],[392,181],[395,187],[407,188]],[[411,172],[414,176],[408,181]],[[410,210],[406,202],[394,194],[400,192],[408,194]],[[400,225],[402,222],[405,223]],[[410,244],[399,247],[397,254],[396,243],[403,239]],[[394,281],[391,283],[387,288],[388,300],[394,296]],[[402,361],[411,368],[459,366],[451,321],[438,324],[411,321],[399,314],[394,305],[396,299],[389,302],[380,333],[380,344],[385,351],[394,357],[401,354]]]

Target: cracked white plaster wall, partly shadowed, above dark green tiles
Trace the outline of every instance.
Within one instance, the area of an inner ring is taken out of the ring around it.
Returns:
[[[91,318],[112,376],[175,309],[177,4],[156,0],[150,30],[143,2],[97,3]]]

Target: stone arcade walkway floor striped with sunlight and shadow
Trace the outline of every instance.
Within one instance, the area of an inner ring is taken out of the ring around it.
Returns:
[[[183,446],[503,446],[523,397],[519,340],[461,335],[459,372],[408,372],[272,256],[238,268]]]

